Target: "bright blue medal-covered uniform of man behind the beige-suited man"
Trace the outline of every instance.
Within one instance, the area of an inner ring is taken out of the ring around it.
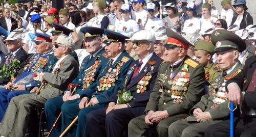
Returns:
[[[42,36],[38,35],[37,37],[42,37]],[[45,66],[47,64],[47,61],[49,60],[49,56],[51,53],[52,53],[52,50],[48,50],[42,54],[35,53],[34,56],[30,59],[29,64],[24,68],[23,73],[18,75],[15,78],[13,83],[14,84],[18,84],[18,83],[24,84],[25,83],[25,88],[29,89],[30,83],[32,83],[34,81],[32,79],[33,73],[44,71]],[[9,104],[10,100],[15,96],[25,94],[25,93],[29,93],[29,92],[27,92],[26,90],[10,92],[10,90],[6,90],[5,88],[0,89],[0,104],[1,104],[0,105],[0,121],[4,117],[5,111],[7,109],[7,106]]]

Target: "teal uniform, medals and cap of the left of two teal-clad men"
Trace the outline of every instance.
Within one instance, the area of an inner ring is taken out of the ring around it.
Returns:
[[[86,34],[85,35],[86,38],[102,36],[102,34],[104,33],[104,31],[102,29],[94,28],[94,27],[83,28],[83,29],[81,29],[81,32]],[[98,50],[94,54],[91,54],[91,55],[87,56],[86,58],[84,58],[83,62],[81,64],[81,67],[80,67],[79,74],[72,81],[72,84],[80,85],[80,87],[77,88],[77,90],[74,94],[79,94],[81,96],[83,91],[86,90],[88,87],[90,87],[92,85],[95,87],[95,81],[97,80],[100,72],[104,69],[104,67],[106,66],[107,63],[108,63],[108,60],[106,57],[106,52],[104,51],[103,48]],[[66,91],[69,91],[69,89],[66,89]],[[68,108],[68,106],[71,107],[71,105],[70,105],[71,102],[72,103],[77,102],[74,107],[72,106],[72,109]],[[75,112],[73,110],[73,108],[77,107],[78,106],[77,104],[79,102],[80,102],[80,99],[64,102],[62,99],[62,96],[57,96],[57,97],[51,98],[46,101],[45,110],[46,110],[46,116],[47,116],[49,129],[51,129],[51,127],[54,124],[55,120],[57,119],[57,116],[59,115],[60,111],[62,111],[62,120],[64,118],[65,119],[70,118],[68,122],[63,122],[61,126],[56,125],[54,127],[52,133],[50,134],[50,136],[59,136],[60,131],[65,130],[65,128],[71,123],[70,121],[72,121],[73,118],[77,116],[80,109],[78,108],[78,110],[77,110],[78,112],[77,111]],[[66,109],[66,110],[63,111],[63,109]],[[73,113],[72,116],[66,115],[65,112],[67,112],[67,111],[69,111],[70,113]],[[73,131],[72,133],[75,133],[75,131]]]

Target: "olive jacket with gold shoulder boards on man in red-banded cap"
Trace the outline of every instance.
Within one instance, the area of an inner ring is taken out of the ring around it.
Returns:
[[[204,94],[205,84],[203,66],[188,56],[174,68],[162,63],[145,112],[166,110],[169,116],[188,114]]]

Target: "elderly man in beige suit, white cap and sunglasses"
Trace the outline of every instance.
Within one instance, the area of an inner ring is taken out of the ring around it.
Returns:
[[[46,100],[60,95],[79,72],[79,65],[70,55],[74,43],[66,36],[59,36],[53,45],[53,54],[58,59],[51,72],[40,73],[39,79],[48,84],[39,94],[31,93],[11,99],[0,125],[4,136],[25,136],[32,109],[41,108]]]

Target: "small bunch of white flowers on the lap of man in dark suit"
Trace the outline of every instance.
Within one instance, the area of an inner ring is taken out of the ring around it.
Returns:
[[[122,89],[118,93],[117,104],[124,104],[130,102],[133,98],[130,90]]]

